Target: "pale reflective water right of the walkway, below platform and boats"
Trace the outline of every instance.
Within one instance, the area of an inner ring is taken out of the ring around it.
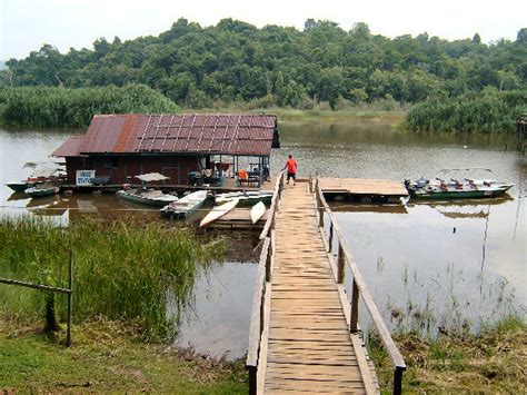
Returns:
[[[408,204],[404,215],[340,206],[336,215],[385,319],[434,335],[527,313],[526,216],[517,201]],[[517,208],[518,221],[503,220]]]

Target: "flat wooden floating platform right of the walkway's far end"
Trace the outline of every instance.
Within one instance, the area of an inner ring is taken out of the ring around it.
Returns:
[[[369,178],[320,178],[319,181],[327,200],[397,203],[408,197],[401,181]]]

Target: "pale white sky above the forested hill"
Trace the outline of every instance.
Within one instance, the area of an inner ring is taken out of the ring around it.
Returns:
[[[0,60],[24,58],[43,43],[62,53],[112,40],[158,36],[179,18],[202,27],[223,18],[304,29],[308,18],[349,30],[366,22],[387,37],[428,32],[444,39],[515,40],[527,27],[526,0],[0,0]]]

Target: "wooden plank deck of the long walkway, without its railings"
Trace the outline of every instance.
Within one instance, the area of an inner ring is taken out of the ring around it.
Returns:
[[[269,327],[262,338],[268,349],[259,388],[264,393],[365,393],[368,383],[307,184],[286,186],[275,231]],[[368,369],[366,358],[362,362]]]

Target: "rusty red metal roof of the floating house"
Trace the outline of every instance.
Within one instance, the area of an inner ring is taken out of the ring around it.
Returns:
[[[95,116],[84,136],[72,137],[53,156],[81,154],[192,152],[270,155],[277,118],[264,115]]]

